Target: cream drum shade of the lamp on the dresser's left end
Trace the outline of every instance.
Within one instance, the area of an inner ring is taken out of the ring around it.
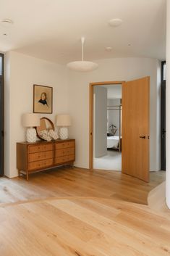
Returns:
[[[40,114],[26,113],[22,115],[22,125],[25,127],[34,127],[41,125]]]

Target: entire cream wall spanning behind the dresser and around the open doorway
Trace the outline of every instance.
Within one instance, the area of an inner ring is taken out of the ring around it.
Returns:
[[[53,86],[54,114],[72,116],[69,135],[76,139],[75,165],[89,166],[89,83],[106,80],[133,80],[150,75],[150,170],[160,170],[160,141],[157,98],[160,83],[157,69],[160,62],[148,58],[119,58],[98,61],[98,70],[76,73],[51,62],[16,52],[6,56],[5,81],[5,175],[17,176],[16,142],[25,141],[21,115],[33,112],[33,84]],[[43,115],[41,115],[43,116]]]

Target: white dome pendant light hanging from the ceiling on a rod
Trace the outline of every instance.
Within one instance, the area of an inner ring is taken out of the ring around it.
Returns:
[[[69,62],[67,64],[67,67],[69,67],[71,70],[76,70],[76,71],[80,71],[80,72],[93,71],[96,68],[98,68],[98,64],[95,62],[88,62],[88,61],[84,60],[85,37],[82,36],[81,42],[82,42],[82,60],[77,61],[77,62]]]

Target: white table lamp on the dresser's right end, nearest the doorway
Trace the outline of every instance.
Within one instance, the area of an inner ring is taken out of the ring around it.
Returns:
[[[69,115],[57,115],[56,125],[61,126],[59,128],[59,139],[68,139],[69,131],[67,126],[71,125],[71,117]]]

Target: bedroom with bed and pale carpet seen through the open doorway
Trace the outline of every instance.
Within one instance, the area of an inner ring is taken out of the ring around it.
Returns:
[[[122,170],[122,84],[94,86],[93,168]]]

